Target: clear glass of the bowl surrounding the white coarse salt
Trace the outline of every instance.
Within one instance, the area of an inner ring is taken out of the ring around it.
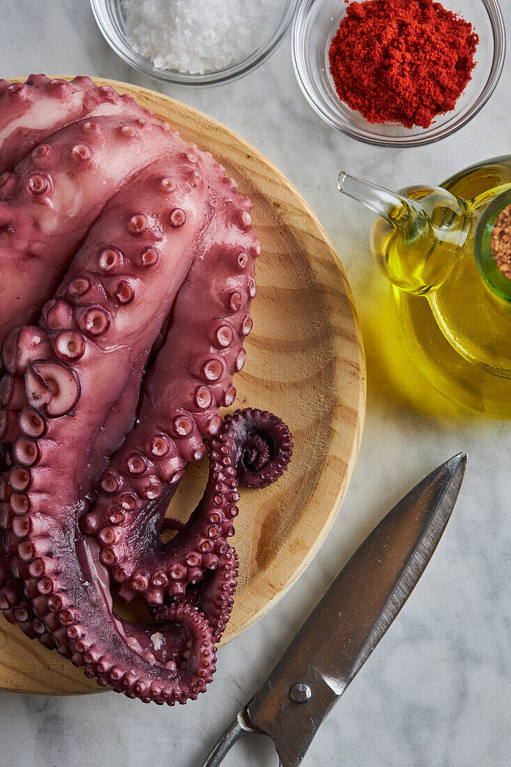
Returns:
[[[175,69],[158,69],[149,58],[134,51],[125,31],[125,18],[120,0],[91,0],[92,12],[102,35],[120,58],[143,74],[175,85],[216,85],[243,77],[259,67],[279,46],[291,24],[297,0],[274,0],[275,25],[265,31],[259,47],[242,61],[206,74],[187,74]]]

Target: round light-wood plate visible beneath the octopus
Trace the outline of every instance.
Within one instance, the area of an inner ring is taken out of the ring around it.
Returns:
[[[25,78],[19,78],[20,81]],[[239,583],[223,644],[282,597],[312,560],[337,515],[364,423],[364,352],[345,272],[314,213],[249,143],[205,114],[143,88],[97,80],[133,95],[209,150],[253,203],[262,242],[254,329],[236,376],[235,407],[259,407],[288,424],[295,444],[285,475],[262,490],[241,488],[234,545]],[[190,465],[171,505],[185,519],[206,485],[207,461]],[[0,688],[22,693],[99,692],[58,653],[0,617]]]

